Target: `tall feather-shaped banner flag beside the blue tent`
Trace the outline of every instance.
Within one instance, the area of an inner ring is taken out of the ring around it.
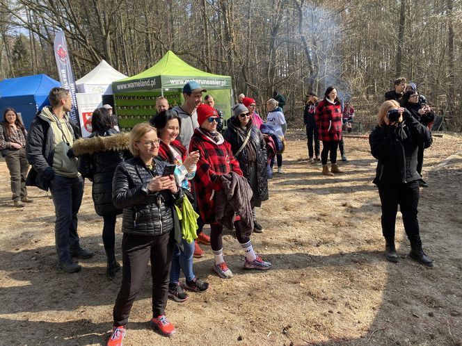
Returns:
[[[70,91],[70,97],[72,99],[70,118],[74,120],[76,124],[79,124],[79,110],[77,108],[77,99],[75,97],[77,91],[75,88],[74,73],[72,72],[70,55],[67,51],[67,44],[63,31],[59,31],[54,38],[54,57],[56,58],[61,86]]]

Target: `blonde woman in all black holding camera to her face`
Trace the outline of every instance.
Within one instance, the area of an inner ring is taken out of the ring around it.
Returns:
[[[379,188],[381,199],[385,258],[390,262],[398,261],[395,223],[399,206],[404,230],[411,242],[409,257],[431,267],[433,260],[422,250],[417,219],[420,195],[417,151],[420,144],[430,147],[431,134],[395,100],[383,102],[377,120],[377,126],[369,135],[369,145],[372,156],[379,160],[373,182]]]

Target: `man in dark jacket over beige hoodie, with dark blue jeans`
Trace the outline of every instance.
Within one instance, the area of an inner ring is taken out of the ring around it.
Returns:
[[[45,191],[51,190],[56,213],[54,232],[58,267],[72,273],[81,270],[81,266],[72,261],[72,256],[93,256],[93,253],[80,247],[77,234],[83,179],[77,172],[77,158],[71,148],[77,139],[78,129],[66,114],[71,109],[69,91],[53,88],[48,98],[51,106],[42,109],[29,130],[26,156],[32,169],[26,184]]]

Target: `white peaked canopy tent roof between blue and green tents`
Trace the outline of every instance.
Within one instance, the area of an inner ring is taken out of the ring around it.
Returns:
[[[92,69],[88,74],[75,82],[78,92],[111,95],[112,82],[125,79],[127,76],[121,74],[117,69],[101,60],[101,63]]]

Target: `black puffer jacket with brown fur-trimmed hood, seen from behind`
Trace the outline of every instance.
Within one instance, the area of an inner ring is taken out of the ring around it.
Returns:
[[[128,147],[129,136],[115,129],[74,142],[72,150],[79,156],[77,168],[83,177],[93,181],[93,203],[99,216],[122,213],[112,204],[112,178],[117,165],[132,157]]]

